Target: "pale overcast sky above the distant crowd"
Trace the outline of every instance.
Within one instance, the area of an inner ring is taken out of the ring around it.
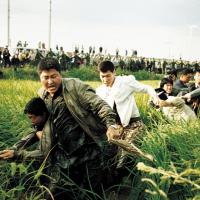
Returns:
[[[0,0],[0,46],[7,44],[7,1]],[[48,47],[49,0],[10,0],[11,45]],[[100,46],[124,55],[200,60],[200,0],[52,0],[51,47]]]

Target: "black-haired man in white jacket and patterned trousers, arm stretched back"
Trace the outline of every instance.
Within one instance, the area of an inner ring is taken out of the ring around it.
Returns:
[[[151,86],[138,82],[133,75],[116,76],[115,67],[111,61],[101,62],[98,68],[103,84],[97,88],[96,93],[117,113],[116,121],[123,129],[120,139],[128,143],[136,142],[144,125],[133,93],[148,93],[154,103],[158,104],[159,98],[155,90]],[[122,151],[118,167],[123,167],[125,155],[126,153]]]

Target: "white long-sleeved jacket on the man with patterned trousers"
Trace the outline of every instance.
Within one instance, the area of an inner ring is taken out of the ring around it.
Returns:
[[[129,124],[131,118],[140,116],[133,92],[144,92],[148,93],[153,99],[158,98],[151,86],[138,82],[132,75],[116,76],[112,87],[107,87],[103,84],[96,89],[96,93],[111,108],[113,108],[115,102],[123,127]]]

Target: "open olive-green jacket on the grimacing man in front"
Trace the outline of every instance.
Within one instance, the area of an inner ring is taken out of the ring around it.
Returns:
[[[43,88],[38,92],[42,99],[45,93]],[[78,79],[63,79],[62,94],[77,123],[99,146],[102,146],[107,140],[107,128],[115,124],[116,114],[110,106],[96,95],[94,89]]]

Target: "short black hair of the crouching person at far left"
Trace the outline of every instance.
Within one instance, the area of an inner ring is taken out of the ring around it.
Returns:
[[[48,113],[48,109],[45,105],[45,102],[39,98],[34,97],[26,104],[24,108],[24,114],[33,114],[36,116],[43,115],[44,113]]]

